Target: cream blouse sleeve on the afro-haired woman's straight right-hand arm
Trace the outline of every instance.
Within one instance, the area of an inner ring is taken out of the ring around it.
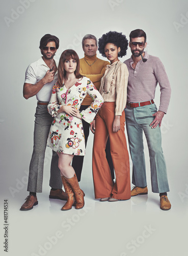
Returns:
[[[121,116],[127,101],[128,69],[123,63],[116,76],[116,108],[115,115]]]

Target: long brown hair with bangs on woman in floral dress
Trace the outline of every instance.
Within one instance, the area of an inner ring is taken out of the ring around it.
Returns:
[[[77,79],[83,77],[79,73],[80,65],[79,65],[79,57],[78,57],[77,53],[74,50],[71,50],[71,49],[65,50],[61,54],[60,61],[59,61],[59,66],[58,66],[58,83],[59,83],[59,86],[63,86],[63,80],[64,80],[64,78],[66,76],[66,73],[67,73],[65,71],[65,66],[64,66],[64,63],[67,59],[68,60],[69,59],[74,59],[77,63],[76,70],[74,71],[75,77]]]

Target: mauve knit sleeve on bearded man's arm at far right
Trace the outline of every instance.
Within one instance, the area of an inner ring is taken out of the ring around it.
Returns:
[[[165,67],[159,58],[154,66],[154,75],[160,87],[160,105],[158,110],[167,113],[171,96],[171,87]]]

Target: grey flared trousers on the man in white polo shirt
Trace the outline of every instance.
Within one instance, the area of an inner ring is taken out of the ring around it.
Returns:
[[[46,105],[37,105],[35,113],[35,128],[34,128],[34,146],[33,154],[30,162],[29,179],[28,179],[28,191],[40,193],[42,192],[42,181],[43,181],[43,166],[44,157],[46,150],[46,141],[49,134],[53,118],[47,112]],[[57,154],[52,154],[52,158]],[[57,156],[56,156],[57,157]],[[58,164],[58,161],[56,161]],[[54,175],[51,172],[51,183],[54,184],[55,188],[59,184],[62,187],[60,170],[55,167],[57,174]],[[60,185],[61,184],[61,185]]]

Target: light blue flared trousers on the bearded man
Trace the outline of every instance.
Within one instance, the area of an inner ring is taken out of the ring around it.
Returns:
[[[126,110],[127,109],[127,110]],[[146,136],[148,149],[149,149],[149,157],[150,157],[150,169],[151,169],[151,185],[152,185],[152,191],[154,193],[164,193],[169,191],[169,185],[168,185],[168,178],[167,178],[167,168],[166,168],[166,162],[165,157],[163,154],[162,149],[162,135],[160,131],[159,125],[155,129],[151,129],[149,124],[153,121],[154,117],[152,114],[154,114],[157,109],[155,104],[139,107],[139,108],[131,108],[127,107],[125,109],[125,115],[126,115],[126,122],[128,120],[127,129],[129,130],[129,140],[130,144],[133,143],[137,147],[136,142],[132,142],[133,136],[132,136],[132,126],[129,125],[130,120],[130,113],[132,112],[132,120],[135,120],[135,125],[140,126],[140,128],[144,131],[144,134]],[[129,114],[128,114],[129,113]],[[127,132],[128,134],[128,132]],[[136,154],[135,150],[132,150],[131,156],[134,157]],[[132,161],[133,162],[133,161]],[[145,168],[141,168],[141,172],[139,173],[139,170],[137,168],[137,165],[139,165],[139,162],[133,164],[133,179],[132,183],[136,186],[145,186],[144,183],[140,183],[139,180],[144,179],[145,180]],[[141,184],[141,185],[140,185]]]

